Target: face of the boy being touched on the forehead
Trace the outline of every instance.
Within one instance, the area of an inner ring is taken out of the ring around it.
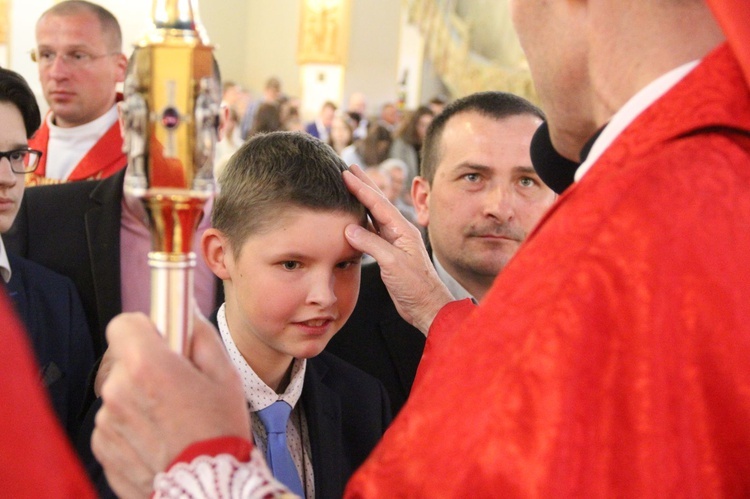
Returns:
[[[227,321],[251,366],[318,355],[359,294],[362,254],[344,237],[355,215],[286,208],[273,223],[224,256]]]

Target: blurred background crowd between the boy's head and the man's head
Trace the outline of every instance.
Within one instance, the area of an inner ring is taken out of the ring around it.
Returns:
[[[257,100],[241,85],[225,82],[223,102],[229,119],[217,148],[217,177],[232,154],[254,135],[305,131],[330,145],[348,165],[365,168],[386,197],[416,224],[410,186],[419,173],[427,127],[447,103],[444,98],[433,97],[416,109],[398,109],[395,103],[386,102],[378,113],[370,113],[367,97],[355,92],[345,110],[326,101],[314,119],[305,123],[300,117],[299,100],[286,95],[281,81],[271,77]]]

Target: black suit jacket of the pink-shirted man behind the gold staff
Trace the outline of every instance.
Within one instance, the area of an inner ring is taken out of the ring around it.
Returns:
[[[122,170],[104,180],[26,189],[16,221],[3,236],[10,252],[73,281],[86,312],[96,357],[107,347],[107,324],[122,312],[120,219],[124,179]],[[223,291],[222,286],[216,286],[217,306],[224,301]]]

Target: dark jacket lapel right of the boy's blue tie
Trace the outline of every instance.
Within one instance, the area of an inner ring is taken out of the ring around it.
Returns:
[[[315,473],[316,497],[341,497],[344,446],[341,428],[341,403],[325,384],[328,367],[319,358],[307,361],[302,404],[307,418],[310,451]]]

